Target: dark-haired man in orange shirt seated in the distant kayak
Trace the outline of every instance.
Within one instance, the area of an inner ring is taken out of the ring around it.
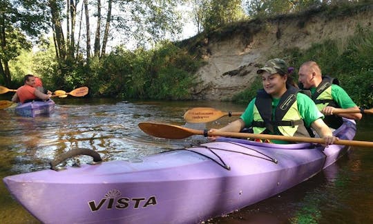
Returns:
[[[35,88],[35,76],[26,75],[24,77],[24,85],[17,89],[17,92],[12,97],[12,102],[30,102],[32,100],[49,100],[51,93],[41,93]]]

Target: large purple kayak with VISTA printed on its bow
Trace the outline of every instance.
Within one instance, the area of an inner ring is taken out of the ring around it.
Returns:
[[[350,120],[334,131],[343,140],[355,133]],[[43,223],[200,223],[294,187],[348,149],[220,138],[141,162],[49,169],[3,181]]]

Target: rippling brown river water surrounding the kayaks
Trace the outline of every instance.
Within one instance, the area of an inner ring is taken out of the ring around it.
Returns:
[[[0,178],[49,169],[49,162],[70,149],[88,148],[104,161],[141,160],[161,151],[207,141],[202,136],[183,140],[154,140],[140,122],[184,125],[182,115],[193,107],[243,111],[246,105],[207,101],[139,101],[64,98],[56,100],[49,117],[22,118],[0,110]],[[372,141],[373,116],[358,122],[356,140]],[[221,127],[224,117],[207,127]],[[204,124],[189,126],[203,129]],[[90,162],[88,156],[68,160]],[[373,223],[373,149],[352,147],[350,153],[313,178],[260,203],[205,223]],[[39,223],[0,183],[0,222]]]

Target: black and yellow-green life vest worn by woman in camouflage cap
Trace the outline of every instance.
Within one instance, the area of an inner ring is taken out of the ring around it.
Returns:
[[[283,136],[309,137],[309,131],[298,111],[298,92],[298,88],[287,86],[287,91],[281,96],[273,117],[271,95],[263,89],[258,91],[254,105],[254,121],[251,124],[254,133],[275,133],[278,130]]]

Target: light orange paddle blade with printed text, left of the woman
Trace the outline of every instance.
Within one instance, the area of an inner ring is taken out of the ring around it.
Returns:
[[[218,120],[228,113],[210,107],[195,107],[184,113],[184,120],[189,123],[206,123]]]

